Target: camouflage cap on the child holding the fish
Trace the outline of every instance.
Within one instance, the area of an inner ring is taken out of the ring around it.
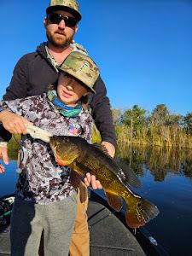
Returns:
[[[88,55],[84,55],[79,51],[71,52],[62,63],[60,70],[79,79],[79,81],[83,82],[91,91],[96,93],[93,89],[93,85],[96,83],[96,79],[98,79],[99,68]]]

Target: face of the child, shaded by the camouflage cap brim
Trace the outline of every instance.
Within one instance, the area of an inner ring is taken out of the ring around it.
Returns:
[[[57,85],[57,94],[62,102],[73,107],[82,96],[88,94],[88,90],[72,76],[61,73]]]

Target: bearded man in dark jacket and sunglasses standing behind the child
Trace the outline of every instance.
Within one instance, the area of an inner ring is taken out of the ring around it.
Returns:
[[[14,100],[16,98],[42,94],[48,84],[53,84],[57,80],[58,67],[61,66],[67,55],[73,50],[84,51],[79,44],[73,43],[73,36],[78,31],[78,23],[81,20],[79,5],[75,0],[52,0],[46,9],[46,14],[44,27],[48,42],[40,44],[36,52],[20,58],[20,61],[15,66],[14,75],[6,90],[6,94],[3,96],[4,100]],[[113,157],[115,152],[114,146],[116,144],[113,119],[108,97],[106,96],[106,87],[100,77],[94,85],[94,90],[96,90],[96,95],[91,95],[89,98],[92,116],[101,133],[102,144]],[[9,139],[7,131],[10,133],[26,133],[24,123],[27,123],[27,120],[18,117],[15,113],[3,111],[0,114],[0,119],[3,123],[3,126],[0,127],[0,141]],[[4,163],[7,164],[9,159],[7,148],[4,144],[0,147],[1,156],[3,157]],[[3,168],[3,166],[0,166],[0,172],[1,170],[3,172]],[[96,177],[90,177],[88,175],[84,183],[86,185],[91,183],[94,189],[98,187]],[[84,207],[86,207],[86,204]],[[78,215],[80,216],[80,212],[78,212]],[[82,219],[79,219],[79,224],[81,222]],[[75,235],[70,247],[70,253],[74,256],[89,255],[89,244],[86,242],[89,236],[85,234],[83,237],[81,233],[79,238],[80,229],[77,228],[75,230],[76,232],[74,232]]]

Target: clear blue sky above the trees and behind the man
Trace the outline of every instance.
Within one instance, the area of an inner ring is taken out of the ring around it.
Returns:
[[[0,98],[19,58],[46,41],[49,0],[1,0]],[[79,0],[75,40],[100,67],[113,108],[192,111],[192,1]]]

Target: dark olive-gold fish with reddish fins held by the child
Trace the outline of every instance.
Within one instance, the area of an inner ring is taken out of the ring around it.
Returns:
[[[102,184],[110,207],[119,212],[125,200],[125,220],[132,229],[137,229],[159,214],[159,209],[150,201],[133,192],[140,181],[129,166],[120,164],[110,157],[101,144],[87,143],[84,138],[52,136],[50,148],[56,162],[69,166],[81,176],[87,172],[95,175]]]

